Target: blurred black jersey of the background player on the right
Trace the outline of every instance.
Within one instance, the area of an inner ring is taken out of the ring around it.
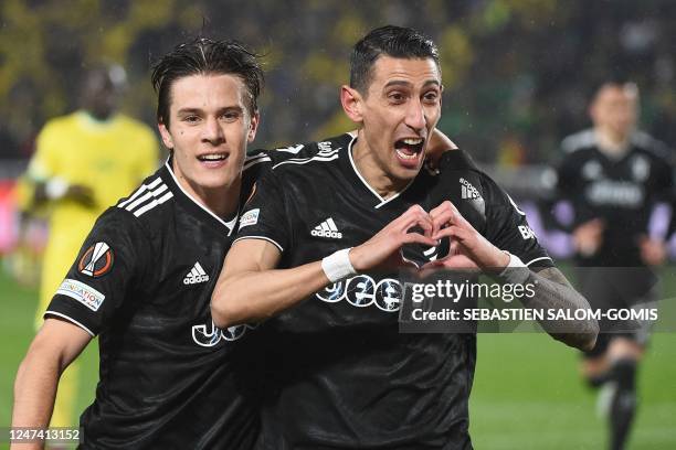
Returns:
[[[668,149],[636,132],[630,148],[613,159],[599,150],[593,130],[563,140],[558,167],[558,195],[574,210],[573,227],[593,218],[604,223],[602,244],[592,256],[578,255],[582,266],[643,266],[638,239],[658,202],[672,203],[673,169]]]

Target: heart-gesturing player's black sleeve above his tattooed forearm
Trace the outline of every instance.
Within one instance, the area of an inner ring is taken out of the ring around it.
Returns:
[[[493,180],[484,182],[488,240],[501,250],[518,256],[528,267],[552,267],[553,261],[540,246],[528,225],[526,213]]]

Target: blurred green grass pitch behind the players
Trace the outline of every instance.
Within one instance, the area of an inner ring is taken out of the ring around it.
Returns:
[[[676,279],[665,270],[665,291]],[[9,426],[17,367],[33,335],[34,289],[0,270],[0,427]],[[676,299],[663,307],[676,311]],[[672,315],[676,317],[676,314]],[[83,354],[80,410],[97,381],[96,342]],[[477,449],[603,449],[595,394],[578,377],[578,354],[545,334],[480,334],[471,401]],[[641,404],[631,449],[676,449],[676,333],[656,333],[640,373]],[[0,443],[0,448],[7,444]]]

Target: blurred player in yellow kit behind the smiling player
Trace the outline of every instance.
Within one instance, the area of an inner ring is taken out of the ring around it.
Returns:
[[[36,328],[96,218],[131,192],[158,164],[158,142],[146,125],[116,113],[126,81],[120,66],[84,77],[82,108],[50,120],[38,136],[23,183],[24,210],[44,212],[50,237],[42,264]],[[72,427],[78,367],[62,376],[52,427]]]

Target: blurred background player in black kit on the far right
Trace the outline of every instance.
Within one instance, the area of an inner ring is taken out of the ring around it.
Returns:
[[[566,138],[558,192],[574,211],[571,221],[580,291],[592,308],[632,308],[656,300],[651,267],[665,260],[665,227],[651,233],[651,215],[670,202],[672,153],[637,131],[638,89],[609,82],[595,93],[593,128]],[[649,323],[600,321],[595,347],[582,373],[604,388],[600,407],[610,419],[610,448],[623,449],[636,408],[636,367]],[[603,332],[605,331],[605,334]]]

